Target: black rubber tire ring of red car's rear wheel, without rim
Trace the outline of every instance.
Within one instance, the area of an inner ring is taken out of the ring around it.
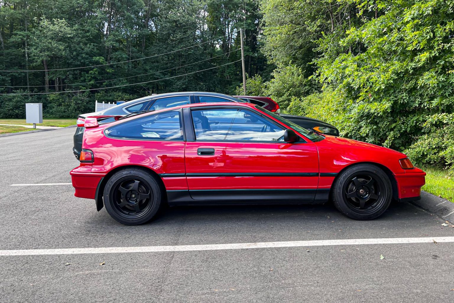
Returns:
[[[138,177],[140,179],[143,179],[153,192],[153,199],[152,201],[150,201],[152,203],[152,206],[138,218],[128,219],[127,217],[118,214],[114,209],[116,207],[116,202],[112,199],[112,191],[114,190],[114,185],[118,182],[118,180],[125,177]],[[112,177],[110,177],[110,179],[107,181],[104,187],[103,198],[104,206],[106,207],[107,212],[112,218],[122,224],[139,225],[149,222],[156,215],[161,206],[162,191],[153,175],[141,169],[124,169],[112,175]]]

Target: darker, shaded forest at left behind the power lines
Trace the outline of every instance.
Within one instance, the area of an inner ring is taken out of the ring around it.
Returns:
[[[74,117],[94,100],[231,93],[242,82],[240,27],[247,74],[268,68],[260,20],[254,0],[0,1],[0,70],[40,70],[0,72],[0,118],[24,117],[26,102],[43,103],[47,117]],[[93,65],[104,66],[80,68]],[[119,85],[127,86],[104,89]],[[17,95],[46,92],[58,94]]]

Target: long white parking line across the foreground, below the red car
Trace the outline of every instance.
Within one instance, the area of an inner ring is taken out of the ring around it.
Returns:
[[[454,237],[340,239],[340,240],[310,240],[310,241],[256,242],[232,244],[138,246],[138,247],[18,249],[18,250],[0,250],[0,256],[59,255],[79,253],[156,253],[156,252],[220,250],[220,249],[276,248],[301,246],[311,247],[311,246],[361,245],[361,244],[400,244],[400,243],[408,244],[434,242],[437,243],[454,242]]]

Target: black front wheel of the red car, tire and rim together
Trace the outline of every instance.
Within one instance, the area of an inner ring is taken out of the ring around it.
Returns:
[[[392,186],[389,177],[378,166],[358,164],[345,169],[331,190],[336,208],[356,220],[379,217],[390,206]]]

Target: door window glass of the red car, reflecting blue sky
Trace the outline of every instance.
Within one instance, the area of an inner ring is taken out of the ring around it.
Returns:
[[[284,129],[247,109],[192,110],[196,140],[283,141]]]

